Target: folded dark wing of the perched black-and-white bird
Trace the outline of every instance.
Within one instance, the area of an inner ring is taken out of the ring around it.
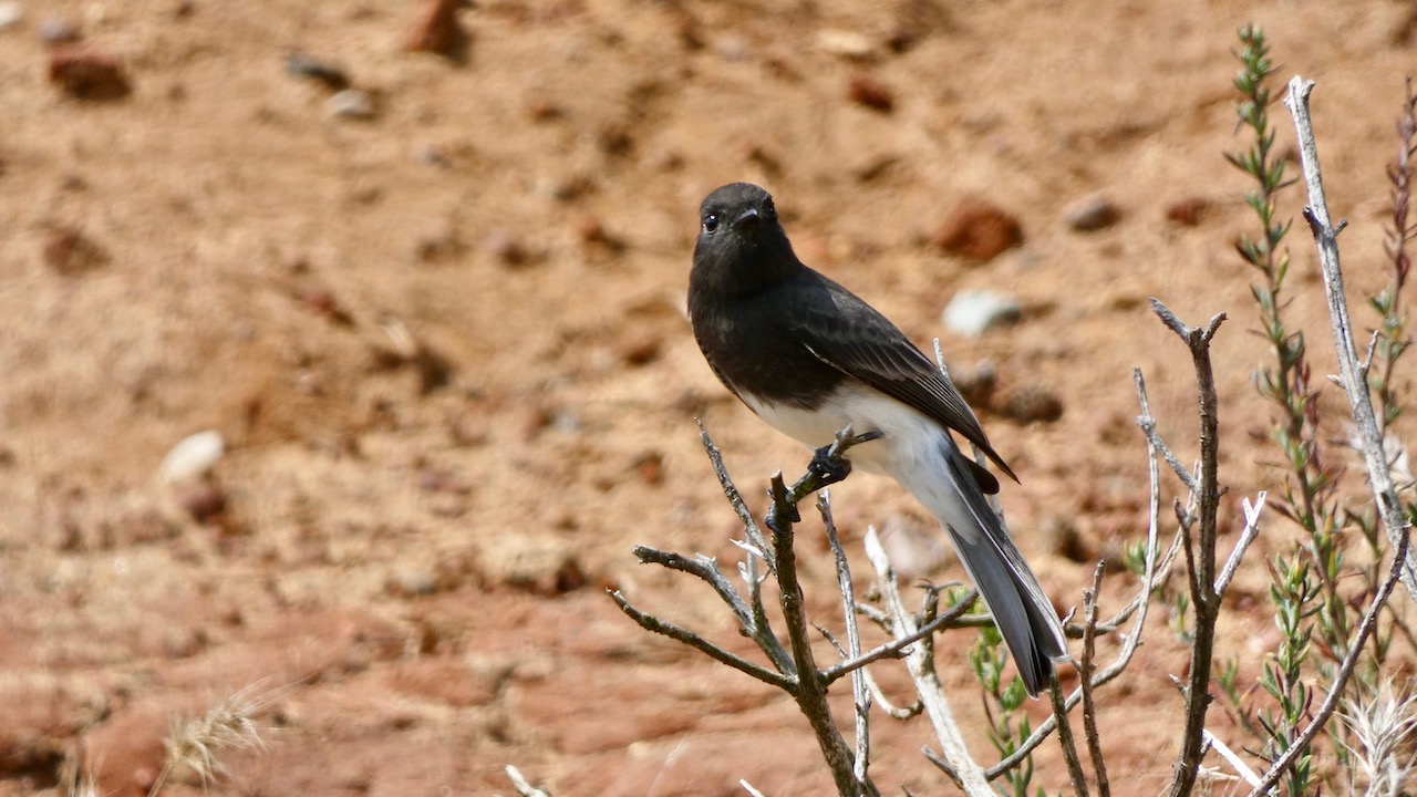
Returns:
[[[939,372],[934,360],[915,347],[886,316],[846,288],[808,272],[818,282],[812,301],[794,308],[788,325],[808,350],[843,374],[869,384],[897,401],[913,407],[945,427],[958,431],[979,447],[1013,481],[1019,476],[989,444],[969,404],[959,390]],[[847,312],[842,312],[847,311]],[[843,319],[852,319],[847,325]],[[976,465],[973,461],[966,461]],[[988,492],[999,482],[982,467],[975,467],[975,481]]]

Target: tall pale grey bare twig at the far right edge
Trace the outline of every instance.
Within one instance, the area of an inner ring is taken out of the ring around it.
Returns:
[[[1309,119],[1311,91],[1314,91],[1314,81],[1305,81],[1295,75],[1289,81],[1289,94],[1284,98],[1284,105],[1294,116],[1294,129],[1299,142],[1299,163],[1304,167],[1304,182],[1309,193],[1309,204],[1304,208],[1304,218],[1309,223],[1309,231],[1314,234],[1314,244],[1319,252],[1319,271],[1323,275],[1323,292],[1328,295],[1329,318],[1333,325],[1333,346],[1338,353],[1339,372],[1343,374],[1343,393],[1348,396],[1353,423],[1357,425],[1363,462],[1367,467],[1367,481],[1373,489],[1373,499],[1377,502],[1377,512],[1383,518],[1383,526],[1387,529],[1387,539],[1396,550],[1399,540],[1407,536],[1410,526],[1403,516],[1401,503],[1397,501],[1397,488],[1393,485],[1393,475],[1383,452],[1382,431],[1373,414],[1373,398],[1369,396],[1367,381],[1362,379],[1357,367],[1353,325],[1348,316],[1343,272],[1339,268],[1338,257],[1338,234],[1343,224],[1333,227],[1328,199],[1323,194],[1318,145],[1314,139],[1314,123]],[[1417,600],[1417,556],[1410,549],[1404,550],[1407,553],[1401,567],[1403,584],[1408,594]]]

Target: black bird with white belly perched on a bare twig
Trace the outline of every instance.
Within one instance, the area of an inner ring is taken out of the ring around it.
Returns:
[[[772,197],[733,183],[700,208],[689,319],[708,366],[777,430],[820,448],[850,424],[881,437],[847,459],[908,489],[945,528],[993,613],[1030,695],[1047,686],[1067,642],[985,494],[999,492],[954,433],[1017,481],[935,362],[854,294],[792,252]]]

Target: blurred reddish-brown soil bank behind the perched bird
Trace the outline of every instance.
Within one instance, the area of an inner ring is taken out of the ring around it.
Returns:
[[[252,684],[273,691],[268,747],[227,756],[213,793],[509,794],[507,764],[560,796],[743,794],[740,779],[828,793],[786,698],[640,632],[604,593],[741,650],[704,586],[631,546],[734,559],[694,417],[751,496],[806,462],[690,338],[700,199],[764,183],[805,260],[921,343],[942,336],[956,372],[993,363],[983,421],[1023,479],[1003,502],[1070,607],[1091,560],[1145,528],[1132,367],[1195,455],[1190,364],[1148,296],[1193,323],[1230,313],[1227,533],[1240,495],[1277,485],[1233,251],[1254,227],[1248,184],[1221,157],[1246,143],[1234,30],[1268,30],[1277,82],[1319,81],[1355,296],[1383,278],[1383,166],[1413,68],[1397,1],[486,0],[458,14],[461,44],[434,37],[452,58],[405,51],[429,16],[411,1],[26,10],[0,31],[0,794],[60,788],[65,757],[103,794],[143,793],[173,718]],[[116,60],[129,92],[51,84],[51,18]],[[823,47],[836,31],[864,51]],[[332,89],[286,74],[295,50],[343,67],[377,115],[330,118]],[[1292,147],[1280,106],[1275,125]],[[1119,221],[1070,230],[1063,208],[1094,193]],[[972,200],[1015,216],[1022,245],[942,254],[941,227]],[[1292,318],[1333,370],[1312,248],[1299,228],[1289,243]],[[949,336],[941,309],[975,288],[1017,295],[1022,323]],[[996,411],[1030,390],[1061,420]],[[230,447],[220,492],[163,485],[163,455],[203,428]],[[853,552],[869,525],[928,530],[888,482],[852,478],[833,499]],[[197,523],[184,506],[220,512]],[[1221,640],[1251,676],[1274,644],[1271,528]],[[837,628],[819,528],[802,529],[811,610]],[[1129,584],[1114,576],[1104,603]],[[988,759],[972,640],[947,635],[939,665]],[[1183,668],[1158,613],[1101,695],[1121,793],[1166,783]],[[949,793],[920,757],[921,722],[877,725],[883,787]],[[1066,783],[1053,745],[1039,763],[1040,783]]]

